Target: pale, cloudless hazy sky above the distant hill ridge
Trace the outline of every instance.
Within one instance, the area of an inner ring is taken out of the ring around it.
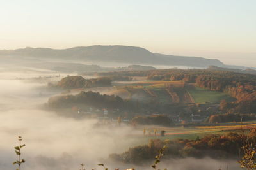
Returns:
[[[0,2],[0,49],[129,45],[256,66],[255,0]]]

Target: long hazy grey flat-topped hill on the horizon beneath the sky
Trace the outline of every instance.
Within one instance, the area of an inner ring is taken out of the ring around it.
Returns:
[[[208,67],[225,65],[217,59],[186,57],[152,53],[135,46],[79,46],[63,50],[51,48],[23,48],[0,50],[0,55],[19,56],[26,59],[55,59],[72,62],[120,62],[129,64],[154,64],[165,66]],[[1,58],[0,58],[1,59]]]

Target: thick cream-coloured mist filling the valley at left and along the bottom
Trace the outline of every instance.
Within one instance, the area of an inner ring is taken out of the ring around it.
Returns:
[[[39,76],[39,75],[38,75]],[[55,170],[79,169],[84,163],[86,169],[102,167],[136,167],[107,160],[110,153],[121,153],[136,146],[142,132],[122,125],[122,127],[96,127],[97,120],[74,120],[60,117],[41,106],[54,92],[42,91],[44,85],[24,83],[21,80],[0,80],[0,169],[15,169],[12,162],[17,159],[14,146],[17,136],[22,136],[26,144],[22,148],[22,159],[26,160],[22,169]],[[44,95],[39,95],[43,92]],[[161,162],[168,169],[239,169],[236,160],[214,159],[172,159]],[[151,169],[150,164],[137,169]]]

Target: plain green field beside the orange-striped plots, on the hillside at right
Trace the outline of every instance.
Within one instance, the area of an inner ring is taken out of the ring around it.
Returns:
[[[224,92],[214,92],[200,87],[189,88],[188,92],[194,98],[195,103],[220,103],[221,100],[225,99],[226,101],[235,101],[234,97],[229,96]]]

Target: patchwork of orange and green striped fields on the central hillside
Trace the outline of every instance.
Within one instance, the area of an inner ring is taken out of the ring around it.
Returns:
[[[139,99],[151,101],[153,98],[159,103],[220,103],[221,100],[235,101],[224,92],[196,87],[193,84],[185,84],[182,81],[125,81],[113,83],[113,87],[97,87],[87,90],[115,94],[123,99]]]

